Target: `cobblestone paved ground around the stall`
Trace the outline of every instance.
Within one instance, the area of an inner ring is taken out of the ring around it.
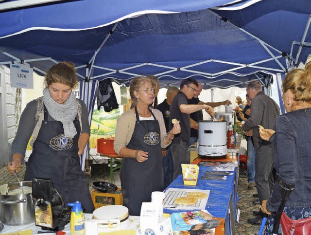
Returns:
[[[90,190],[92,190],[92,182],[94,181],[109,181],[109,167],[107,164],[94,164],[91,167],[91,177],[89,179]],[[21,167],[19,172],[20,179],[23,179],[25,174],[25,166]],[[3,183],[13,183],[17,182],[15,176],[10,175],[6,166],[0,166],[0,185]],[[121,186],[119,171],[114,172],[114,181],[117,186]],[[245,170],[240,170],[240,177],[238,182],[238,195],[239,202],[238,208],[241,210],[240,221],[236,223],[235,234],[236,235],[257,235],[259,232],[260,226],[254,226],[247,223],[247,218],[253,217],[253,210],[258,210],[259,206],[254,206],[252,204],[253,193],[256,193],[256,190],[247,190],[247,174]]]

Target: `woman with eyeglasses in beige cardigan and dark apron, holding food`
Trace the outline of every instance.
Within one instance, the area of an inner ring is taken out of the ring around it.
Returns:
[[[134,78],[130,85],[134,107],[117,121],[114,150],[124,158],[120,172],[123,205],[131,216],[140,215],[142,202],[151,201],[153,191],[163,191],[161,147],[170,145],[180,132],[177,123],[166,133],[162,113],[148,108],[154,92],[150,78]]]

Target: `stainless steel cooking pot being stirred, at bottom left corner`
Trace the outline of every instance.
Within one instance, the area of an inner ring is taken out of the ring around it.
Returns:
[[[22,186],[32,187],[32,181],[22,181]],[[19,183],[8,184],[9,191],[17,189]],[[0,195],[0,220],[5,225],[24,225],[35,222],[35,207],[31,193]]]

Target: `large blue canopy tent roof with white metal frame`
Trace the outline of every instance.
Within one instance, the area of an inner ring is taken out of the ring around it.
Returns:
[[[0,3],[0,65],[22,60],[45,74],[73,62],[89,119],[99,80],[128,85],[154,74],[162,86],[193,77],[205,88],[244,87],[311,53],[308,0],[77,0],[8,9],[16,2]]]

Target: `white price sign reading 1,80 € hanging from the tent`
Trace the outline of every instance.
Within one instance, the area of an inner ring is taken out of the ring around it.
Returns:
[[[28,65],[11,64],[10,65],[11,87],[16,88],[34,88],[34,70]]]

